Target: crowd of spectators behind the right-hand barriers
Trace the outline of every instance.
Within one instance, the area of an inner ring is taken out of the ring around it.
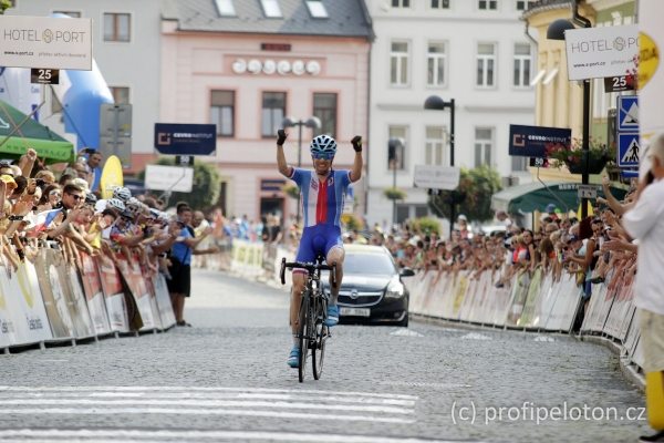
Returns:
[[[623,200],[616,199],[606,177],[602,182],[605,197],[593,200],[592,215],[579,219],[574,213],[543,208],[536,229],[513,223],[505,212],[497,212],[495,223],[504,228],[486,233],[470,229],[460,215],[449,237],[437,231],[417,230],[414,224],[384,229],[375,225],[370,231],[350,231],[346,243],[385,246],[400,267],[436,272],[436,278],[460,270],[471,278],[490,271],[496,287],[506,287],[519,274],[536,269],[559,280],[563,274],[577,279],[581,297],[588,302],[592,285],[606,284],[613,289],[631,282],[636,272],[636,244],[621,226],[621,216],[632,205],[636,183]],[[619,278],[608,279],[609,272]]]

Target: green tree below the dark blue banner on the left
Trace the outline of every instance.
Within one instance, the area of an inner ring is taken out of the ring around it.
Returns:
[[[173,157],[159,157],[157,165],[175,165]],[[138,174],[138,178],[145,178],[145,171]],[[187,202],[194,209],[206,209],[215,205],[219,199],[221,178],[212,163],[197,161],[194,163],[194,186],[190,193],[173,193],[168,199],[169,205],[176,202]]]

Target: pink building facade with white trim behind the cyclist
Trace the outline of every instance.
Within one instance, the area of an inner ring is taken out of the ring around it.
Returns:
[[[216,155],[196,161],[217,165],[227,216],[277,213],[290,222],[297,200],[282,189],[290,181],[277,171],[276,130],[284,116],[319,116],[321,133],[340,144],[335,167],[350,167],[350,140],[369,134],[371,39],[191,30],[184,20],[162,21],[160,122],[217,124]],[[287,159],[295,166],[299,127],[287,132]],[[302,127],[303,167],[311,167],[312,136]],[[354,189],[356,214],[363,214],[363,183]]]

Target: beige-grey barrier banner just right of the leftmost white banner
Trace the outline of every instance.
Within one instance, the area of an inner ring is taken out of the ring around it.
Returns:
[[[60,289],[59,278],[55,281],[52,280],[52,276],[56,277],[58,271],[51,272],[51,262],[48,258],[51,253],[61,254],[60,250],[42,249],[37,256],[34,261],[37,280],[46,308],[53,339],[74,338],[74,322],[70,315],[68,300]]]

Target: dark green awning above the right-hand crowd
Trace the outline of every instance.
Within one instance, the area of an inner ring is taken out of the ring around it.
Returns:
[[[561,212],[577,210],[581,199],[579,198],[580,183],[527,183],[525,185],[508,187],[494,194],[491,207],[495,210],[505,210],[508,214],[544,212],[549,204],[556,205]],[[603,196],[602,186],[598,185],[598,196]],[[616,187],[611,188],[616,198],[623,198],[625,190]]]

